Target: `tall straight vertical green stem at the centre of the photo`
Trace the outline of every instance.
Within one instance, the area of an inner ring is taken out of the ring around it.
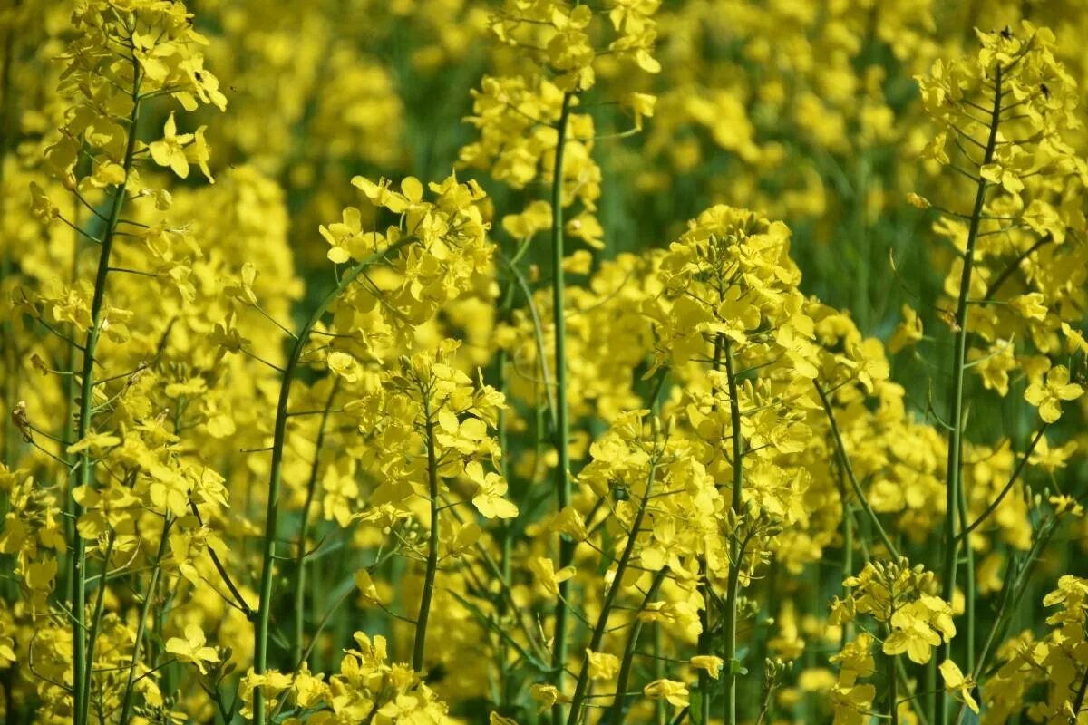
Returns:
[[[562,272],[562,157],[567,142],[567,123],[573,95],[564,93],[562,109],[556,127],[555,167],[552,179],[552,290],[553,318],[555,320],[555,448],[558,462],[555,468],[556,505],[562,511],[570,505],[570,451],[568,448],[569,421],[567,420],[567,321],[565,316],[565,280]],[[559,535],[559,568],[569,566],[574,560],[574,542]],[[559,584],[559,598],[555,605],[555,647],[552,665],[556,671],[556,687],[562,689],[564,672],[567,664],[567,600],[570,596],[570,580]],[[574,711],[572,711],[574,712]],[[552,709],[552,722],[562,722],[562,705]]]

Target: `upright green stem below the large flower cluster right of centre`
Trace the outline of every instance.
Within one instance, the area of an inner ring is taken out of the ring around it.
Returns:
[[[737,371],[733,364],[733,350],[728,338],[721,338],[726,353],[726,382],[729,386],[729,418],[730,436],[733,443],[733,495],[730,507],[741,513],[744,490],[744,438],[741,432],[741,403],[738,396]],[[729,578],[726,584],[725,612],[725,660],[726,672],[722,676],[722,720],[726,725],[737,723],[737,675],[740,663],[737,662],[737,605],[740,599],[741,540],[737,532],[729,539]]]

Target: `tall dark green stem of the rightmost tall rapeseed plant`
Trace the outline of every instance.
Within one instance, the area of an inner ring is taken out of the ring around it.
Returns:
[[[993,150],[997,148],[998,126],[1001,123],[1001,66],[998,65],[993,78],[993,109],[990,114],[990,133],[986,141],[986,150],[982,154],[982,165],[993,160]],[[953,342],[951,374],[952,383],[949,387],[949,420],[948,424],[952,428],[949,439],[949,458],[947,471],[947,496],[944,513],[944,567],[941,572],[941,597],[944,601],[952,601],[955,593],[956,562],[960,555],[960,540],[957,536],[957,524],[960,516],[957,507],[960,505],[960,487],[963,483],[963,380],[965,363],[967,360],[967,307],[970,298],[972,272],[975,266],[975,243],[978,241],[978,229],[982,221],[982,208],[986,205],[986,190],[989,184],[985,178],[978,179],[975,190],[975,207],[970,214],[970,223],[967,228],[967,243],[963,253],[963,272],[960,276],[960,296],[956,300],[955,312],[955,340]],[[951,640],[945,643],[939,653],[940,663],[952,657]],[[937,692],[937,725],[948,723],[948,696],[943,689]]]

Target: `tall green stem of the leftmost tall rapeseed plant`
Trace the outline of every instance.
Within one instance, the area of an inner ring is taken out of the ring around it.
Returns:
[[[76,440],[83,440],[90,433],[91,409],[95,399],[95,352],[98,349],[98,339],[101,333],[102,302],[106,299],[106,282],[110,271],[110,253],[113,250],[113,240],[118,227],[118,220],[121,217],[121,208],[125,200],[125,190],[128,186],[128,175],[132,173],[133,157],[136,153],[136,126],[139,122],[139,86],[141,75],[139,63],[133,58],[133,108],[128,116],[128,137],[125,141],[125,155],[123,168],[125,179],[113,189],[113,198],[110,203],[110,214],[102,233],[102,246],[98,258],[98,271],[95,274],[95,291],[90,300],[90,328],[87,330],[87,339],[83,346],[83,371],[79,389],[79,421],[76,428]],[[84,449],[79,453],[79,485],[92,486],[95,484],[95,461],[90,450]],[[70,492],[71,497],[71,492]],[[70,502],[70,508],[76,520],[83,514],[83,507],[76,501]],[[87,672],[87,629],[85,624],[87,609],[87,545],[76,530],[74,532],[73,552],[69,560],[72,571],[69,573],[69,580],[72,583],[72,662],[73,662],[73,707],[76,715],[76,725],[86,725],[87,712],[90,703],[90,693],[87,691],[89,679]]]

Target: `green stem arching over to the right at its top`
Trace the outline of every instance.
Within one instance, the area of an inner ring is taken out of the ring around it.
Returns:
[[[260,604],[257,609],[257,626],[254,630],[254,673],[257,675],[263,674],[268,668],[269,621],[272,614],[272,571],[275,566],[275,540],[279,536],[280,485],[283,477],[284,443],[287,439],[287,402],[290,398],[290,385],[298,370],[298,361],[302,357],[302,350],[313,327],[324,316],[333,302],[344,293],[348,285],[355,282],[356,277],[362,274],[368,266],[413,240],[415,237],[404,237],[349,268],[341,277],[339,283],[325,295],[324,299],[310,313],[310,317],[295,336],[295,345],[287,357],[287,365],[284,367],[283,380],[280,384],[280,398],[276,402],[275,424],[272,433],[272,463],[269,474],[268,508],[264,514],[264,540],[261,557]],[[264,695],[260,688],[257,688],[254,691],[254,722],[257,725],[264,725]]]

